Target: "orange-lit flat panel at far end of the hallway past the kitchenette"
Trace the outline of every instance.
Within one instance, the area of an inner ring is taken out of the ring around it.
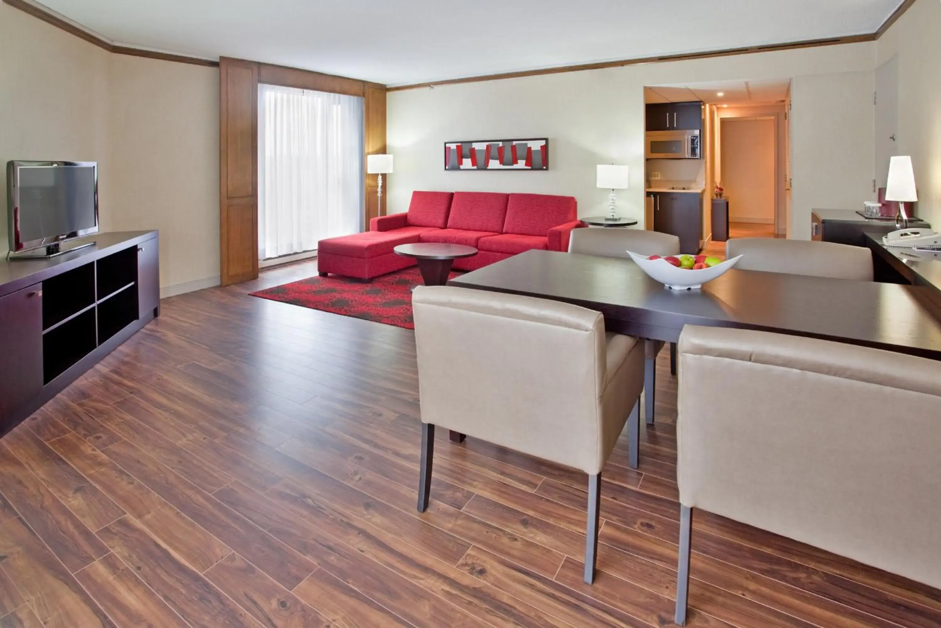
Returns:
[[[774,224],[774,118],[722,120],[722,184],[729,220]]]

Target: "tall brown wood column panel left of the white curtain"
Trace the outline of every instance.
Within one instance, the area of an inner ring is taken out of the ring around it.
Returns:
[[[258,276],[258,64],[219,59],[219,233],[223,286]]]

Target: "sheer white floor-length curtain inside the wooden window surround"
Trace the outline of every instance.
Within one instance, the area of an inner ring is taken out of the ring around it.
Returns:
[[[359,231],[362,99],[271,85],[258,92],[259,259]]]

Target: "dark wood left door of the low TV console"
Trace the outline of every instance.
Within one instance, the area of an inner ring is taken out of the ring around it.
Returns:
[[[0,297],[0,434],[42,390],[42,284]]]

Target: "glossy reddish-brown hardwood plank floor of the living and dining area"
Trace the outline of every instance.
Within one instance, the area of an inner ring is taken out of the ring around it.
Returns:
[[[678,542],[676,380],[640,471],[586,479],[439,431],[416,511],[412,332],[247,296],[160,318],[0,441],[0,626],[661,626]],[[941,591],[697,512],[691,626],[941,625]]]

